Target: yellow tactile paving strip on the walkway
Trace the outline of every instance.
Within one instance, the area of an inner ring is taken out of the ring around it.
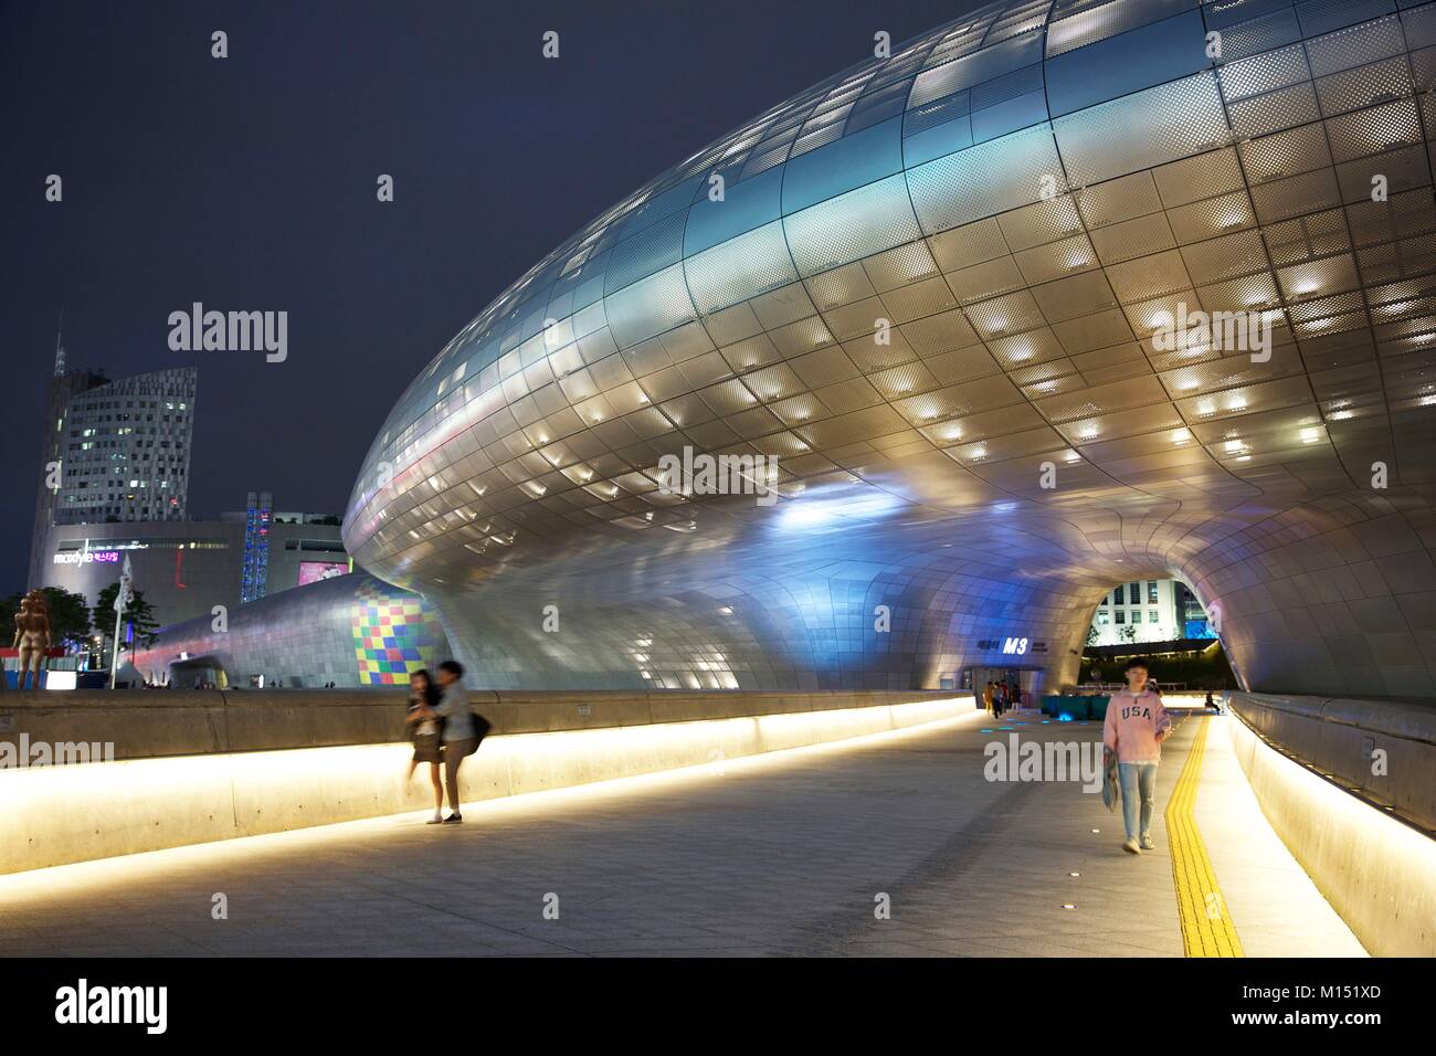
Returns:
[[[1202,723],[1176,779],[1167,802],[1167,840],[1172,845],[1172,881],[1176,885],[1176,909],[1182,920],[1182,947],[1188,957],[1245,957],[1236,937],[1226,899],[1216,886],[1212,859],[1206,856],[1202,833],[1196,828],[1196,787],[1202,780],[1206,731]]]

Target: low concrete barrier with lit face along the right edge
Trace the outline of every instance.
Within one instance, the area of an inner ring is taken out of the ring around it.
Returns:
[[[1228,727],[1232,744],[1262,813],[1361,944],[1379,957],[1436,955],[1436,839],[1422,825],[1436,713],[1245,693],[1229,703],[1241,720]]]

